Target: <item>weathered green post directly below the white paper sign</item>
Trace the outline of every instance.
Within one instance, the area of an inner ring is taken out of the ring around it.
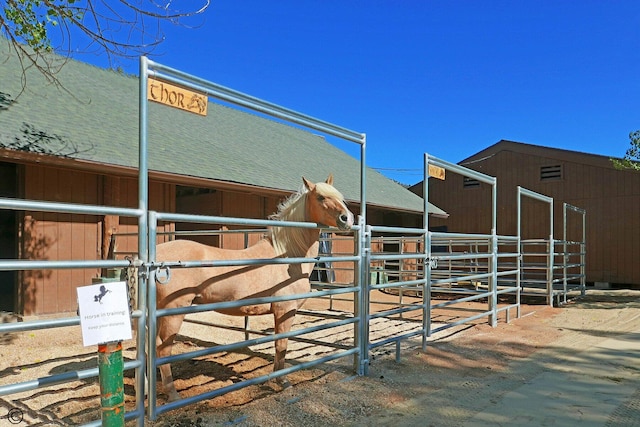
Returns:
[[[98,345],[100,407],[103,427],[124,426],[122,342]]]

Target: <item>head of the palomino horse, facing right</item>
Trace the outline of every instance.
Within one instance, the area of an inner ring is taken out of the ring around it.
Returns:
[[[353,226],[353,213],[347,208],[342,194],[333,186],[333,175],[316,184],[302,177],[307,193],[308,220],[318,224],[349,230]]]

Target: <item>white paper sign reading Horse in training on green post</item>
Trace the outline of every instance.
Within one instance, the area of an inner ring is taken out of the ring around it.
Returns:
[[[85,347],[131,339],[126,282],[81,286],[77,293]]]

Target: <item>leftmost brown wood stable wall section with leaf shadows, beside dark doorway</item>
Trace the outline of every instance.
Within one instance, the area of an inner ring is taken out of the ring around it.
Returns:
[[[97,204],[96,175],[57,168],[27,166],[25,198],[34,200]],[[99,218],[25,212],[21,258],[41,260],[97,259],[100,247]],[[75,289],[90,284],[96,269],[26,271],[21,280],[24,314],[75,311]]]

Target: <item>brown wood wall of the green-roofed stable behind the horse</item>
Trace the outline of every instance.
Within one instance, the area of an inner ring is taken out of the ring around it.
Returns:
[[[114,207],[138,207],[138,181],[132,177],[116,177],[78,171],[43,164],[24,164],[23,196],[27,200],[55,201],[63,203],[105,205]],[[176,185],[151,181],[149,186],[149,208],[160,212],[180,212],[224,217],[265,219],[277,211],[283,197],[228,190],[209,190],[193,198],[176,199]],[[357,207],[350,207],[358,215]],[[419,215],[388,215],[383,209],[372,209],[376,223],[384,225],[415,225]],[[391,222],[390,222],[391,221]],[[210,226],[207,226],[210,228]],[[241,226],[242,227],[242,226]],[[247,228],[247,227],[242,227]],[[159,225],[159,232],[175,229],[193,229],[192,224]],[[41,212],[25,212],[20,222],[21,259],[38,260],[96,260],[106,259],[109,253],[110,236],[116,235],[115,256],[137,252],[137,218],[117,215],[71,215]],[[126,236],[125,234],[131,234]],[[249,244],[261,235],[251,235]],[[168,239],[168,236],[158,240]],[[208,242],[211,243],[211,242]],[[222,247],[245,246],[244,237],[228,236],[222,242],[213,242]],[[353,239],[340,240],[334,244],[333,252],[353,253]],[[344,265],[341,265],[344,264]],[[339,282],[353,281],[353,263],[341,263],[336,267]],[[25,315],[46,315],[75,312],[76,288],[91,284],[99,277],[99,269],[58,269],[25,271],[18,278],[18,307],[16,311]]]

